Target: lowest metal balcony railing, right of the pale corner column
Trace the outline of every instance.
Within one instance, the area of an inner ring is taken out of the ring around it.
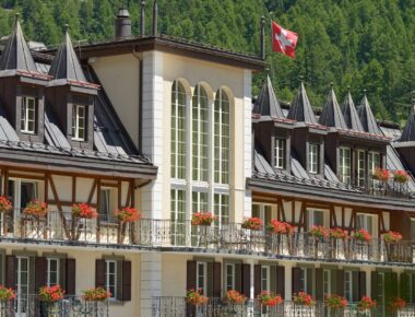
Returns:
[[[206,304],[193,306],[188,304],[185,297],[154,297],[152,315],[153,317],[414,317],[415,307],[407,306],[400,310],[390,310],[388,307],[359,310],[356,304],[351,304],[344,309],[331,309],[322,302],[305,306],[287,301],[274,307],[266,307],[258,300],[248,300],[245,304],[237,305],[222,298],[209,298]]]

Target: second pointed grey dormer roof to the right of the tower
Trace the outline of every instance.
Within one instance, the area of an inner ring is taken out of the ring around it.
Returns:
[[[308,99],[306,89],[301,82],[298,93],[295,96],[289,108],[287,118],[298,122],[317,125],[315,113],[312,111],[310,101]]]

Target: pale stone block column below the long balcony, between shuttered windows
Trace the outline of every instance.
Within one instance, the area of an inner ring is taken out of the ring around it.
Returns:
[[[152,316],[152,298],[162,296],[162,254],[140,256],[140,316]]]

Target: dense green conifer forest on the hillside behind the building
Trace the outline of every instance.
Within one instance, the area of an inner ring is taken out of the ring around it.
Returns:
[[[64,24],[78,40],[114,36],[118,8],[126,5],[138,34],[139,0],[0,0],[0,36],[22,14],[26,36],[58,45]],[[146,32],[153,0],[146,0]],[[322,107],[330,82],[342,101],[351,86],[358,104],[363,90],[378,118],[401,121],[415,91],[415,0],[158,0],[159,33],[239,52],[259,54],[260,19],[298,33],[296,59],[266,51],[277,95],[290,99],[303,75],[311,103]],[[271,14],[270,14],[271,12]],[[253,93],[264,74],[253,78]]]

